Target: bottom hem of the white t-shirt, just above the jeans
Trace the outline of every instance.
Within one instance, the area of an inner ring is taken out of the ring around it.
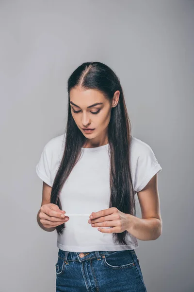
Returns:
[[[57,247],[65,252],[75,252],[75,253],[81,253],[81,252],[93,252],[93,251],[121,251],[121,250],[133,250],[138,247],[137,244],[128,244],[128,245],[92,245],[92,246],[68,246],[63,245],[57,241]]]

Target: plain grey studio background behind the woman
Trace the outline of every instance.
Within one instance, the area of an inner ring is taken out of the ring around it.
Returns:
[[[132,134],[162,166],[162,236],[136,249],[147,291],[194,291],[193,32],[192,0],[0,1],[0,292],[55,291],[57,233],[36,222],[35,165],[63,133],[66,81],[85,61],[118,75]]]

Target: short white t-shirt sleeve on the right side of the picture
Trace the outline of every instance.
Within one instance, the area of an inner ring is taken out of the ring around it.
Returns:
[[[158,163],[156,156],[149,145],[142,143],[140,153],[137,157],[135,167],[135,179],[133,189],[135,192],[140,192],[152,177],[161,172],[162,167]]]

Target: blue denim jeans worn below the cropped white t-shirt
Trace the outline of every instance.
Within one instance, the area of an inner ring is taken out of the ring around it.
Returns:
[[[56,292],[147,292],[133,250],[66,252],[59,249]]]

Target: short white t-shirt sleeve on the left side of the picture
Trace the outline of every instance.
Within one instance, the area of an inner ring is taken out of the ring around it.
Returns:
[[[36,169],[36,173],[38,175],[38,177],[44,181],[45,183],[51,185],[51,176],[50,176],[50,155],[49,155],[49,149],[48,149],[49,143],[47,143],[44,148],[43,151],[41,153],[40,156],[40,160],[38,162],[38,164],[36,165],[35,169]]]

